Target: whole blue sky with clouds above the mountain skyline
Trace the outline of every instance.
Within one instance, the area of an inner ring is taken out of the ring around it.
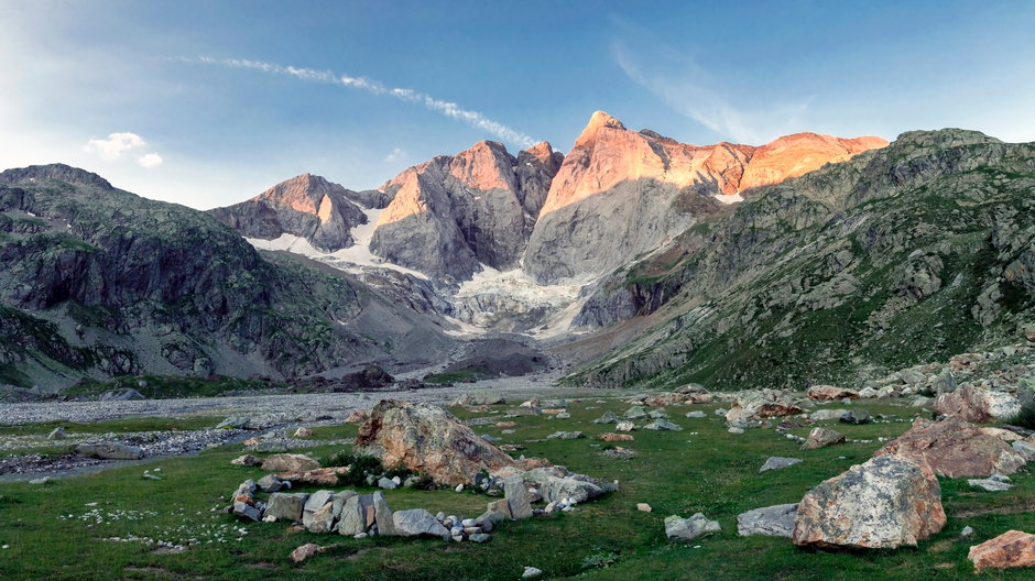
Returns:
[[[974,129],[1035,141],[1035,2],[0,0],[0,169],[198,209],[351,189],[591,113],[678,141]]]

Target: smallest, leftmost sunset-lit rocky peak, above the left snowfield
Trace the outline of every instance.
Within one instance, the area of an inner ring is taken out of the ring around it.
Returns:
[[[209,213],[246,238],[273,240],[287,233],[334,252],[351,246],[350,230],[367,222],[363,211],[349,199],[352,194],[320,176],[302,174]]]

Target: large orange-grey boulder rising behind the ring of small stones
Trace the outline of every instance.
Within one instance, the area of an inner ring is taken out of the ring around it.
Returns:
[[[353,449],[380,458],[385,467],[422,472],[448,486],[469,484],[483,470],[518,465],[445,409],[397,399],[384,399],[370,410]]]

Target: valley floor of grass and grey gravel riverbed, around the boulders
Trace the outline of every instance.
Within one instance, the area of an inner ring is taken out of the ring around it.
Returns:
[[[478,388],[394,395],[444,403]],[[634,403],[630,402],[630,393],[565,394],[532,382],[505,394],[511,405],[450,410],[471,424],[477,434],[498,445],[518,447],[512,452],[515,457],[544,457],[579,473],[617,480],[620,490],[575,511],[504,522],[486,544],[384,536],[328,538],[288,523],[244,523],[222,512],[228,494],[242,480],[259,480],[265,474],[260,468],[230,464],[244,449],[240,439],[233,438],[211,441],[214,446],[203,446],[195,456],[160,458],[144,465],[123,465],[42,484],[0,483],[0,573],[4,579],[77,580],[511,580],[520,579],[525,567],[535,567],[546,579],[971,579],[973,566],[967,559],[971,546],[1010,529],[1035,528],[1035,479],[1022,471],[1010,475],[1013,487],[1000,492],[972,486],[966,478],[939,478],[947,523],[916,548],[814,551],[797,548],[787,538],[738,535],[738,515],[799,502],[824,480],[869,460],[875,450],[909,429],[915,418],[930,417],[929,408],[913,405],[915,397],[819,404],[806,409],[816,419],[792,417],[792,424],[781,429],[743,430],[730,430],[728,418],[717,414],[730,407],[728,402],[669,403],[664,414],[680,429],[644,429],[655,420],[643,417],[632,420],[638,429],[621,432],[631,435],[632,440],[609,442],[597,437],[614,432],[617,426],[593,420],[609,412],[623,418]],[[0,428],[4,442],[0,454],[10,457],[23,453],[25,447],[46,446],[41,442],[47,441],[45,435],[57,426],[54,420],[58,418],[70,439],[85,432],[103,438],[139,438],[149,431],[211,432],[226,414],[251,410],[260,418],[260,429],[240,434],[279,441],[292,451],[322,458],[348,449],[344,442],[351,441],[357,426],[341,419],[355,409],[369,407],[381,395],[138,403],[165,406],[157,408],[126,403],[112,407],[110,415],[90,410],[90,405],[70,406],[83,414],[79,416],[62,416],[59,410],[65,404],[45,404],[51,408],[4,406],[4,413],[20,409],[18,413],[23,415],[17,416],[22,418],[18,424],[7,419],[8,425]],[[569,417],[503,417],[513,412],[513,404],[533,395],[574,395],[566,402]],[[852,425],[837,419],[840,412],[816,415],[825,409],[865,409],[874,419]],[[201,410],[219,415],[198,414]],[[643,412],[657,410],[658,406],[645,405]],[[329,418],[316,419],[324,415]],[[631,415],[638,416],[639,412]],[[69,417],[81,424],[69,424]],[[111,417],[123,419],[105,419]],[[94,420],[100,421],[90,424]],[[270,424],[264,424],[266,420]],[[501,421],[508,424],[497,426]],[[312,427],[310,436],[285,437],[287,430],[303,425]],[[817,427],[837,430],[846,441],[803,450],[799,441]],[[584,437],[549,438],[558,431],[580,431]],[[231,432],[236,436],[238,430]],[[53,443],[51,450],[36,451],[54,453],[57,450]],[[760,473],[770,457],[798,458],[802,462]],[[316,487],[298,490],[314,492]],[[451,489],[400,487],[384,491],[384,496],[396,512],[421,507],[461,515],[480,514],[486,503],[494,500],[470,490]],[[639,508],[640,503],[650,505],[651,512]],[[666,537],[667,516],[689,517],[695,513],[716,520],[721,529],[689,541]],[[966,527],[971,527],[973,534],[961,537]],[[292,562],[291,552],[307,542],[333,547],[303,563]],[[1027,579],[1028,574],[1031,570],[990,570],[982,578]]]

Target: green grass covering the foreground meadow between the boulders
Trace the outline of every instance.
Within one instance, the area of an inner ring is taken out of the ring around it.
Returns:
[[[524,566],[543,569],[548,579],[577,577],[587,580],[701,579],[701,580],[893,580],[973,579],[966,560],[970,545],[1010,528],[1035,529],[1035,513],[1014,513],[1016,506],[1035,506],[1035,479],[1017,474],[1017,486],[1005,493],[976,492],[962,480],[943,480],[943,502],[949,515],[945,530],[916,549],[865,553],[809,552],[787,539],[737,536],[738,514],[760,506],[798,501],[821,480],[867,460],[882,442],[908,427],[913,408],[894,403],[867,402],[871,413],[896,415],[889,423],[863,426],[837,425],[849,442],[813,451],[798,447],[773,430],[726,431],[716,406],[669,406],[679,432],[638,430],[627,446],[639,452],[629,460],[598,453],[602,442],[591,438],[545,440],[557,430],[582,430],[588,436],[613,426],[591,420],[611,409],[629,406],[617,399],[598,404],[586,399],[569,406],[571,419],[518,417],[515,434],[504,435],[492,425],[477,426],[478,434],[503,438],[526,447],[521,453],[544,456],[571,470],[607,480],[619,480],[621,491],[588,503],[578,512],[548,518],[504,523],[486,545],[447,544],[439,540],[375,538],[356,540],[335,535],[293,531],[286,524],[239,524],[230,516],[211,513],[227,503],[226,495],[247,478],[259,478],[255,468],[229,465],[240,448],[219,448],[195,458],[164,460],[164,480],[141,479],[139,467],[68,479],[44,487],[0,484],[0,574],[20,579],[362,579],[362,580],[513,580]],[[506,406],[489,415],[502,416]],[[704,409],[708,417],[683,417]],[[471,417],[462,409],[458,416]],[[484,414],[477,414],[484,415]],[[904,421],[895,421],[902,419]],[[143,420],[138,420],[143,421]],[[836,424],[836,423],[831,423]],[[316,428],[315,438],[347,437],[355,426]],[[805,430],[798,430],[805,431]],[[695,434],[696,432],[696,434]],[[340,446],[309,449],[326,456]],[[759,474],[769,456],[803,458],[800,464]],[[394,509],[424,507],[432,512],[473,516],[490,498],[473,493],[397,490],[385,493]],[[105,512],[152,511],[140,520],[106,519],[90,524],[78,518],[99,503]],[[654,512],[641,513],[639,502]],[[716,518],[722,531],[691,544],[671,542],[663,519],[669,514],[689,516],[704,512]],[[138,542],[111,542],[112,536],[184,537],[208,539],[203,529],[241,526],[248,534],[227,537],[226,544],[203,544],[178,555],[159,555]],[[978,536],[972,541],[954,537],[966,526]],[[185,527],[179,530],[179,527]],[[296,566],[287,556],[305,542],[341,544],[341,547]],[[699,548],[695,548],[699,547]],[[1031,571],[989,572],[982,579],[1021,580]]]

